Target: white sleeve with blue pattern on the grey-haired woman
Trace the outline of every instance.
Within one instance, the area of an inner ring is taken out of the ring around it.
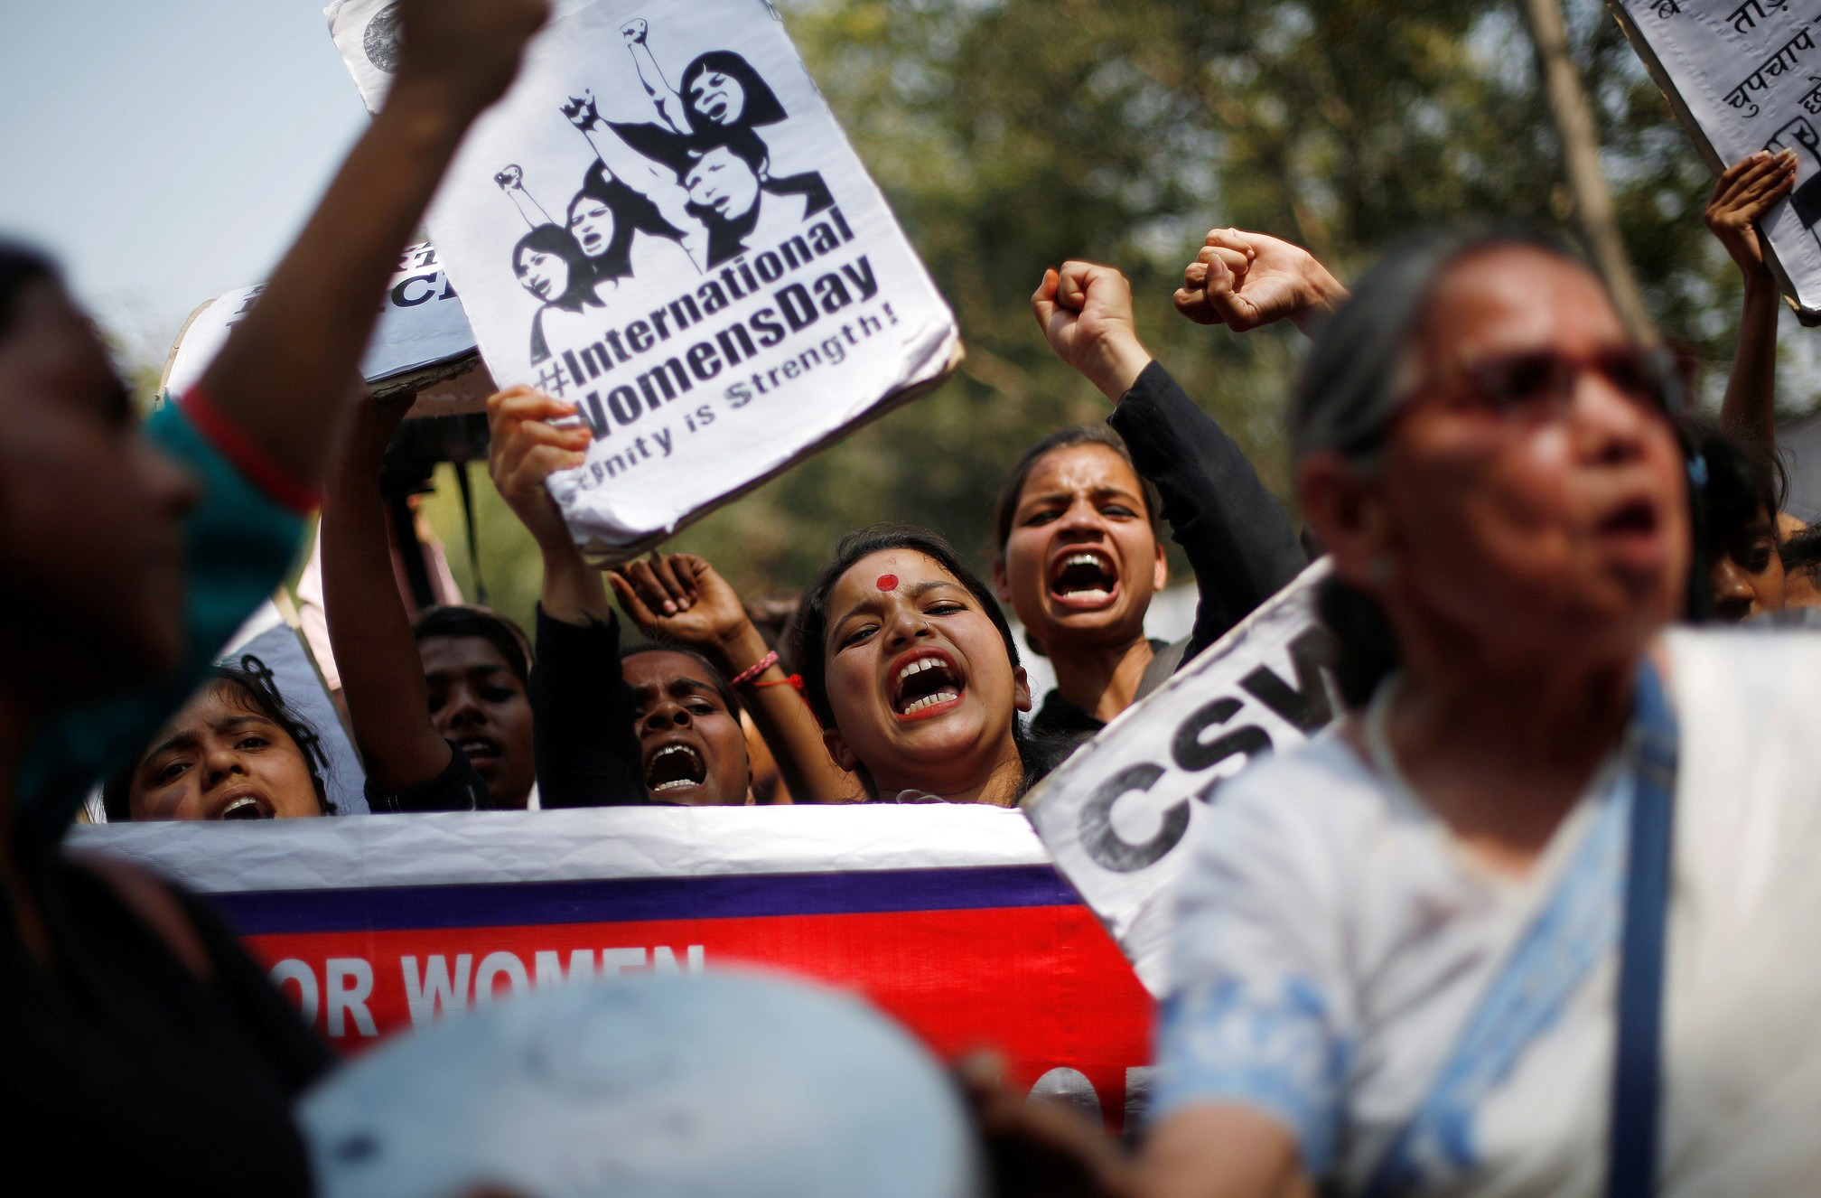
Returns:
[[[1220,788],[1178,883],[1173,989],[1158,1025],[1151,1118],[1218,1102],[1295,1136],[1304,1167],[1333,1162],[1351,1034],[1338,859],[1328,861],[1328,768],[1298,750]]]

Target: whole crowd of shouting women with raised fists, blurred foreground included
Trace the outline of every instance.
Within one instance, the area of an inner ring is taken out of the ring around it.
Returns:
[[[510,388],[490,473],[543,555],[528,635],[484,608],[408,615],[379,484],[404,404],[348,379],[544,9],[402,9],[384,111],[151,421],[55,266],[0,251],[0,1103],[64,1185],[308,1193],[291,1103],[326,1049],[204,903],[60,841],[97,785],[120,821],[335,814],[317,734],[270,677],[211,665],[319,499],[341,697],[388,817],[1014,807],[1326,553],[1349,710],[1206,821],[1147,1142],[1127,1160],[980,1085],[992,1143],[1051,1193],[1156,1198],[1592,1194],[1639,1169],[1663,1191],[1814,1185],[1821,967],[1797,938],[1821,914],[1821,639],[1766,628],[1821,606],[1821,537],[1783,510],[1754,226],[1794,157],[1739,162],[1708,208],[1746,282],[1717,422],[1535,231],[1431,231],[1351,291],[1286,240],[1209,233],[1178,311],[1313,342],[1287,404],[1300,533],[1144,350],[1125,279],[1047,269],[1036,324],[1107,422],[1018,459],[985,570],[936,530],[861,528],[781,634],[701,557],[585,561],[544,481],[590,431]],[[1198,595],[1175,645],[1144,630],[1165,528]]]

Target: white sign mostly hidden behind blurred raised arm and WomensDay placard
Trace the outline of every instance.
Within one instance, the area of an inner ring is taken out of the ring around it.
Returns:
[[[226,344],[228,331],[253,310],[264,289],[266,284],[240,288],[189,313],[164,362],[158,391],[182,395],[195,386]],[[457,375],[466,377],[477,366],[473,333],[468,330],[455,288],[443,273],[435,246],[421,242],[406,248],[399,255],[399,269],[386,288],[386,306],[361,360],[368,390],[381,399],[415,395],[432,384]],[[484,402],[486,393],[481,395],[481,406]],[[455,410],[450,406],[415,415],[443,415]]]

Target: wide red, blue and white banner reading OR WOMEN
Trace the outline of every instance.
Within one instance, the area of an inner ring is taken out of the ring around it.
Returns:
[[[626,807],[82,827],[206,892],[331,1043],[519,990],[758,965],[863,992],[934,1052],[1113,1127],[1151,1000],[1016,810]]]

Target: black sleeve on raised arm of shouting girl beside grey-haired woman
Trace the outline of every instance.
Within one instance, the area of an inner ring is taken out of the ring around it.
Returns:
[[[1107,422],[1162,497],[1200,603],[1182,659],[1218,641],[1307,564],[1282,504],[1213,417],[1151,362]]]

